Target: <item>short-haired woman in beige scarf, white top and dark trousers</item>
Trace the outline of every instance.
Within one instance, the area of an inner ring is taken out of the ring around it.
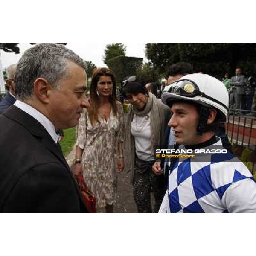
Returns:
[[[164,129],[169,121],[169,108],[152,93],[147,93],[145,84],[135,76],[124,81],[122,92],[131,104],[125,125],[125,147],[131,163],[130,179],[134,186],[134,201],[138,212],[152,212],[150,193],[154,195],[154,212],[163,200],[166,190],[164,176],[152,171],[154,145],[160,145]]]

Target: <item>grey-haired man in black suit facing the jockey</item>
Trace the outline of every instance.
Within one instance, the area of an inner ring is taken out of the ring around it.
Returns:
[[[0,115],[0,212],[87,212],[55,132],[89,106],[84,61],[37,44],[20,58],[15,85],[17,100]]]

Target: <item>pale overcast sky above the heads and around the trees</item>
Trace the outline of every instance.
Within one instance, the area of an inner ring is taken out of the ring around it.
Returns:
[[[102,61],[104,49],[109,43],[67,43],[66,47],[73,50],[86,61],[92,61],[98,67],[105,66]],[[126,46],[126,56],[140,57],[145,61],[145,43],[123,43]],[[15,64],[20,59],[22,53],[32,47],[29,43],[20,43],[20,54],[8,53],[1,50],[3,68]]]

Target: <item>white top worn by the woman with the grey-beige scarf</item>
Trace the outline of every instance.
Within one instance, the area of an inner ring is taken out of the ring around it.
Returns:
[[[151,154],[150,112],[146,116],[134,114],[131,122],[131,134],[134,137],[137,157],[144,161],[154,160]]]

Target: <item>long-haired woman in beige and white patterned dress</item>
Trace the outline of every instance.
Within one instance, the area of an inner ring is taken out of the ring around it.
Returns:
[[[93,72],[90,108],[79,119],[75,173],[82,172],[96,196],[96,207],[113,212],[116,201],[116,173],[123,163],[123,108],[116,99],[116,79],[107,68]]]

